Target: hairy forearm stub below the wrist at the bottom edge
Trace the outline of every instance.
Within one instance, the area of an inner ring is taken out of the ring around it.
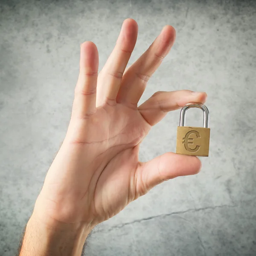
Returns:
[[[26,226],[20,256],[81,256],[90,231],[83,225],[51,224],[32,215]]]

